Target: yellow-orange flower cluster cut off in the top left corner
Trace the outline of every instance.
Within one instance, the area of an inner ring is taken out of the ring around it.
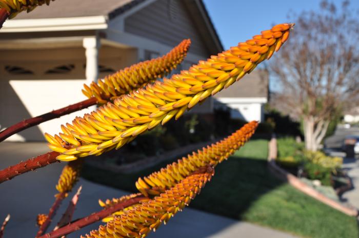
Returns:
[[[55,0],[51,0],[55,1]],[[37,6],[43,4],[49,5],[50,0],[0,0],[0,8],[9,13],[9,19],[15,17],[19,12],[34,10]]]

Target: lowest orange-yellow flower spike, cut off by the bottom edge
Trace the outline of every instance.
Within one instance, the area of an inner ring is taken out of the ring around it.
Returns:
[[[214,169],[210,166],[196,170],[181,183],[154,199],[116,216],[106,226],[100,226],[98,230],[91,231],[86,237],[145,237],[151,230],[155,231],[162,222],[166,224],[171,216],[188,205],[210,181],[213,173]]]

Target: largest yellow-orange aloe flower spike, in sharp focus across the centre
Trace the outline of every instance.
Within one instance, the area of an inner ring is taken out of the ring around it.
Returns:
[[[159,123],[167,123],[172,117],[177,119],[185,110],[240,80],[281,48],[293,25],[276,25],[173,75],[170,80],[156,81],[117,98],[114,104],[108,103],[91,114],[76,117],[72,125],[62,126],[63,133],[59,136],[45,134],[50,148],[62,153],[57,156],[58,160],[72,161],[122,147],[137,135]],[[65,149],[66,143],[72,149]]]

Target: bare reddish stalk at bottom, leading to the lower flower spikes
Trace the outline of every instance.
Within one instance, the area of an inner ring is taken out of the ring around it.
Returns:
[[[136,204],[144,198],[145,198],[145,196],[137,196],[137,197],[134,197],[133,199],[129,199],[122,203],[118,203],[118,204],[108,207],[102,211],[92,213],[89,216],[83,217],[82,219],[79,219],[67,226],[59,228],[58,230],[51,231],[50,233],[44,234],[44,235],[40,236],[39,238],[56,238],[56,237],[61,237],[63,235],[69,234],[69,233],[79,230],[85,226],[88,226],[92,223],[98,222],[99,220],[105,218],[106,216],[109,216],[110,214],[112,214],[116,211],[122,210],[128,206]]]

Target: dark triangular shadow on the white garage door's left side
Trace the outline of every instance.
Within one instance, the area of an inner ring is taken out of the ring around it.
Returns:
[[[31,117],[9,81],[3,78],[0,78],[0,110],[0,130]],[[18,135],[26,141],[44,141],[43,133],[37,126],[18,132]]]

